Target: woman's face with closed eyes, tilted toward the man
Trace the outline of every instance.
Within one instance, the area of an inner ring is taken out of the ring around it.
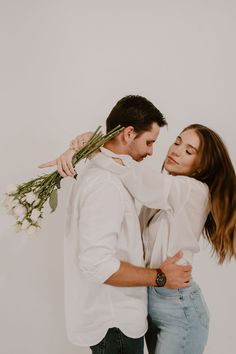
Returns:
[[[171,175],[191,176],[200,165],[200,139],[193,129],[177,136],[167,153],[164,168]]]

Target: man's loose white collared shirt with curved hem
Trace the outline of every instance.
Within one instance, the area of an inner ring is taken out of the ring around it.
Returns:
[[[69,339],[95,345],[118,327],[138,338],[147,330],[145,287],[104,284],[120,261],[144,266],[143,245],[134,199],[117,176],[127,155],[102,149],[73,186],[65,228],[65,309]],[[104,168],[105,167],[105,168]]]

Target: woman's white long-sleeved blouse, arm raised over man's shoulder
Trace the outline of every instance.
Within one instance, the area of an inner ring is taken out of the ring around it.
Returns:
[[[208,186],[195,178],[157,173],[143,164],[123,167],[120,175],[144,207],[140,214],[145,263],[159,267],[179,250],[178,263],[192,263],[209,212]]]

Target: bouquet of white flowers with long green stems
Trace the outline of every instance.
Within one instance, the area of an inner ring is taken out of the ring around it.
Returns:
[[[107,134],[99,126],[89,141],[73,156],[73,166],[89,157],[105,142],[117,136],[124,128],[117,126]],[[76,176],[75,176],[76,177]],[[10,185],[3,201],[7,212],[16,218],[16,231],[26,230],[33,234],[41,226],[43,208],[47,200],[51,212],[57,207],[57,191],[63,177],[57,172],[39,176],[33,180],[14,186]]]

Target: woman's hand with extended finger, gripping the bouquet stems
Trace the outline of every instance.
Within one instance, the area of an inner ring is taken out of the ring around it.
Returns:
[[[57,159],[43,163],[39,165],[39,168],[53,167],[57,166],[57,171],[60,173],[62,177],[74,177],[76,171],[72,165],[72,157],[75,154],[74,149],[67,149],[62,155],[60,155]]]

